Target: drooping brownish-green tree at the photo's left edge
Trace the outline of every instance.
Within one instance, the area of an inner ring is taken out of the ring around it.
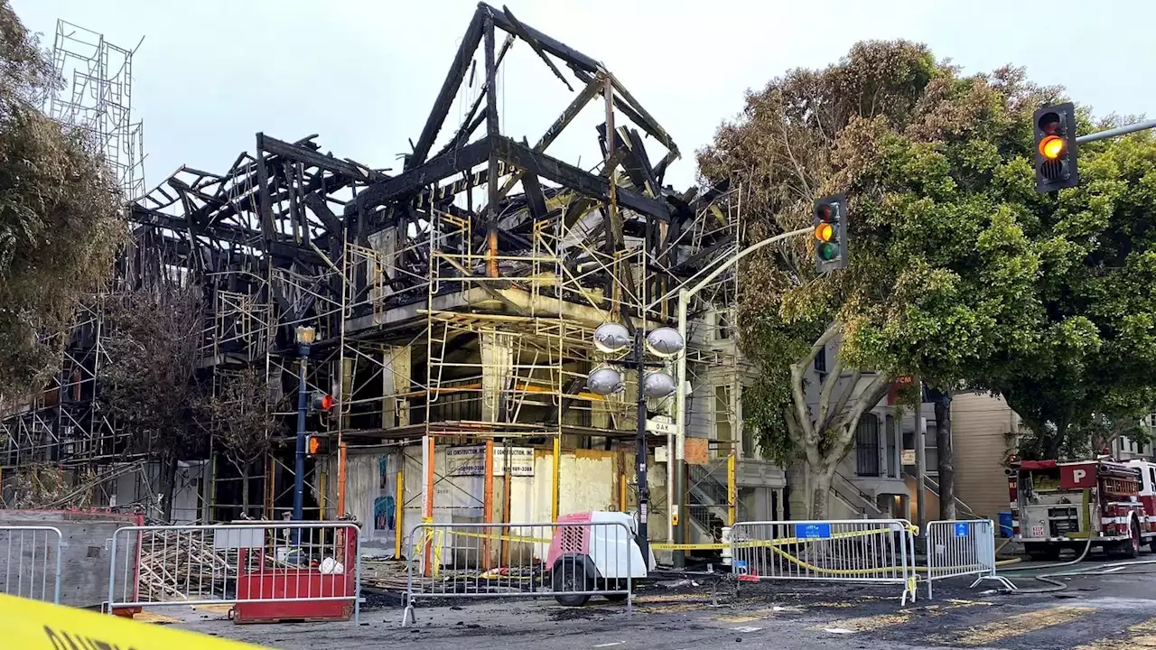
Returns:
[[[76,128],[38,108],[51,59],[0,1],[0,391],[45,378],[77,301],[106,281],[126,235],[119,195]]]

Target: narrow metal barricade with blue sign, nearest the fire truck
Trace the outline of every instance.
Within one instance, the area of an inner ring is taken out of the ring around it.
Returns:
[[[985,579],[1007,578],[995,575],[995,524],[991,519],[964,522],[929,522],[924,531],[927,539],[927,597],[938,579],[976,576],[971,586]]]

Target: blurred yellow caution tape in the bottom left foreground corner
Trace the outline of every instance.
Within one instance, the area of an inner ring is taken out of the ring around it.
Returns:
[[[61,648],[120,648],[124,650],[244,650],[258,649],[192,631],[139,623],[120,616],[50,605],[0,594],[0,630],[5,648],[59,650]]]

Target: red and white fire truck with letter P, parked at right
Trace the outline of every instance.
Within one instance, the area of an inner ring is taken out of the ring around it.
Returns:
[[[1008,467],[1015,540],[1033,560],[1089,544],[1125,557],[1156,552],[1156,465],[1107,458],[1022,460]]]

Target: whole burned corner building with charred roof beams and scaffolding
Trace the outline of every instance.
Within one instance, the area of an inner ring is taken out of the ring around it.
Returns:
[[[572,91],[533,143],[502,128],[499,71],[514,49]],[[446,124],[455,102],[464,118]],[[598,124],[575,124],[592,104],[605,109]],[[593,169],[551,155],[570,128],[596,139]],[[157,276],[200,287],[200,371],[222,386],[259,369],[274,386],[268,408],[287,426],[252,479],[266,517],[291,505],[299,376],[335,400],[306,422],[329,444],[307,459],[305,516],[354,514],[368,544],[393,548],[422,518],[629,510],[637,385],[585,389],[602,361],[592,333],[673,324],[677,289],[733,254],[742,226],[740,187],[664,183],[681,155],[602,64],[482,3],[400,171],[328,153],[318,136],[259,133],[227,171],[183,168],[128,206],[133,245],[110,290]],[[709,539],[712,522],[735,516],[728,487],[743,508],[779,510],[765,504],[779,503],[769,495],[781,496],[783,473],[755,458],[738,416],[734,287],[726,275],[692,304],[688,492],[668,496],[668,435],[652,434],[652,539],[673,534],[672,501],[687,504],[686,537]],[[3,416],[5,467],[111,475],[126,463],[96,399],[99,305],[86,308],[57,383]],[[313,330],[305,363],[298,327]],[[673,398],[649,411],[677,415]],[[201,461],[190,518],[236,517],[236,472],[213,449],[190,460]]]

